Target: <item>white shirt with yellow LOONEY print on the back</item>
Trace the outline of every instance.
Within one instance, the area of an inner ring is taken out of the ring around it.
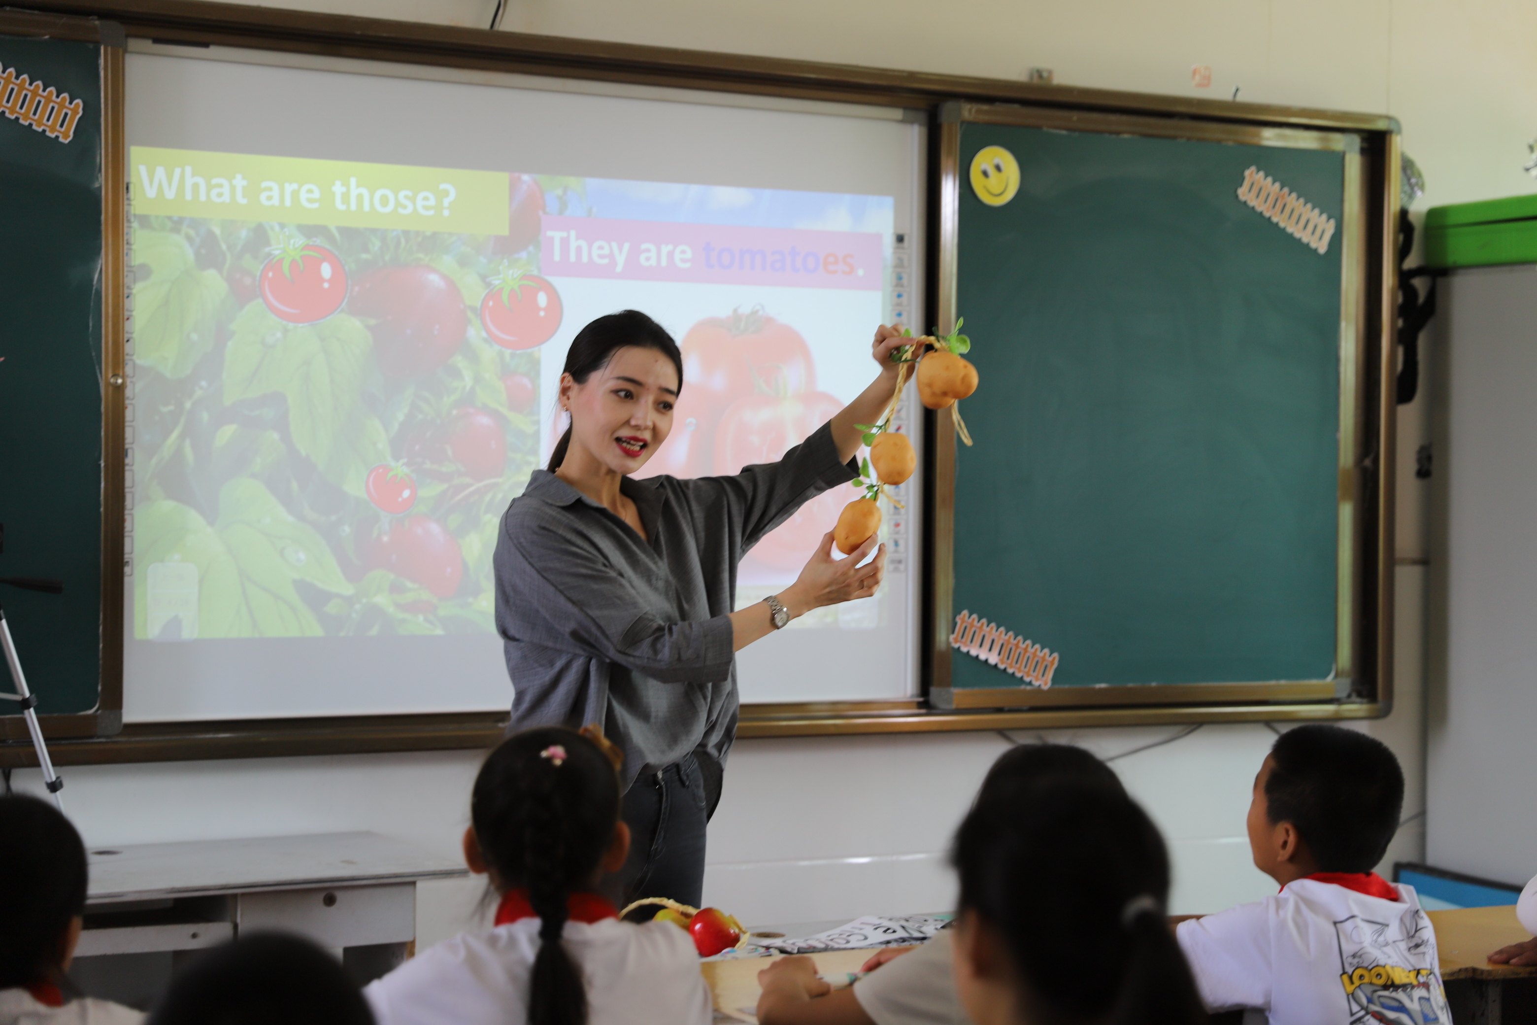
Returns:
[[[1180,922],[1176,936],[1210,1011],[1259,1008],[1270,1025],[1448,1023],[1436,931],[1414,887],[1394,890],[1400,901],[1297,879]]]

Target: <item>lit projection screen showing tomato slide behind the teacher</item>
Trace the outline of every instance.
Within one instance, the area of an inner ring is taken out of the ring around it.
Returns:
[[[647,467],[679,476],[778,458],[870,383],[878,323],[924,323],[899,111],[155,49],[128,60],[128,721],[504,708],[490,553],[587,321],[682,346]],[[918,692],[922,483],[896,490],[882,592],[742,652],[744,701]],[[853,496],[753,549],[738,604]]]

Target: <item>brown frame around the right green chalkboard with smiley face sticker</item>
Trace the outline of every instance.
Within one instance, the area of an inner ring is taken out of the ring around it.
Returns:
[[[1317,718],[1382,716],[1393,699],[1393,395],[1394,349],[1383,333],[1393,323],[1393,269],[1385,240],[1397,218],[1397,135],[1377,138],[1316,128],[1234,124],[1137,114],[1068,112],[1019,104],[951,101],[939,111],[934,310],[941,330],[956,321],[959,292],[961,126],[1008,124],[1107,135],[1328,149],[1343,154],[1345,203],[1340,224],[1340,430],[1339,578],[1336,587],[1336,678],[1285,682],[1099,685],[1071,688],[950,685],[954,624],[956,435],[947,415],[930,413],[930,529],[925,558],[933,601],[925,624],[930,702],[939,708],[1054,708],[1076,725],[1102,724],[1104,713],[1160,705],[1191,708],[1185,721],[1208,721],[1210,705],[1317,708]],[[1373,263],[1377,274],[1373,274]],[[1097,713],[1097,715],[1096,715]]]

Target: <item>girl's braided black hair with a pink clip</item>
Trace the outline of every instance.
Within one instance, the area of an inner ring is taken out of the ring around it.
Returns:
[[[516,733],[475,778],[470,822],[481,856],[504,888],[527,887],[539,916],[529,982],[529,1025],[586,1025],[587,988],[566,951],[566,902],[586,888],[619,822],[619,773],[575,730]]]

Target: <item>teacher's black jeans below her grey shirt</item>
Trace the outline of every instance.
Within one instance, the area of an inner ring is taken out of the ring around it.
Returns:
[[[693,755],[630,784],[624,794],[630,857],[622,870],[604,881],[610,899],[619,907],[639,897],[670,897],[699,907],[704,896],[704,830],[715,810],[712,790]],[[630,917],[650,919],[659,910],[639,908]]]

